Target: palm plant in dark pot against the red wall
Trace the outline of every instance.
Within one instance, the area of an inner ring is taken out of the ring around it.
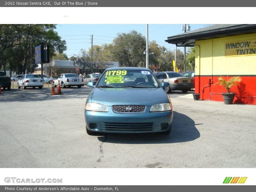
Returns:
[[[230,79],[226,80],[224,77],[220,76],[218,80],[219,82],[217,82],[216,84],[221,85],[227,90],[226,93],[221,93],[223,96],[224,103],[232,104],[236,93],[230,92],[230,89],[233,86],[238,85],[237,83],[241,81],[241,78],[239,76],[233,76]]]

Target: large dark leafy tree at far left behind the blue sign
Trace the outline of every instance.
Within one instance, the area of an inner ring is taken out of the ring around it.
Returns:
[[[66,42],[55,28],[54,24],[0,24],[0,68],[8,65],[20,74],[34,71],[35,47],[41,39],[49,45],[51,58],[56,52],[61,54],[67,49]]]

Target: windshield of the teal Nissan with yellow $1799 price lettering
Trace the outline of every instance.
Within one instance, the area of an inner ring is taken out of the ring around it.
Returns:
[[[158,88],[159,85],[151,71],[143,69],[124,69],[105,71],[97,87]]]

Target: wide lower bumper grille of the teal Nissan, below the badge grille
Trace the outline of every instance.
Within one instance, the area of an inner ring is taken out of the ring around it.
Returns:
[[[106,131],[151,131],[153,123],[110,123],[102,125]]]

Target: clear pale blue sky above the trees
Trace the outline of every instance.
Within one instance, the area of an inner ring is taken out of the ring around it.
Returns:
[[[160,46],[174,50],[174,44],[168,44],[164,40],[169,36],[184,33],[182,24],[148,24],[148,41],[155,40]],[[206,27],[206,24],[190,24],[190,30]],[[129,33],[135,30],[146,37],[146,24],[60,24],[56,31],[62,40],[67,42],[68,58],[79,55],[81,49],[88,50],[93,35],[93,45],[112,43],[118,33]],[[182,48],[183,49],[183,48]]]

